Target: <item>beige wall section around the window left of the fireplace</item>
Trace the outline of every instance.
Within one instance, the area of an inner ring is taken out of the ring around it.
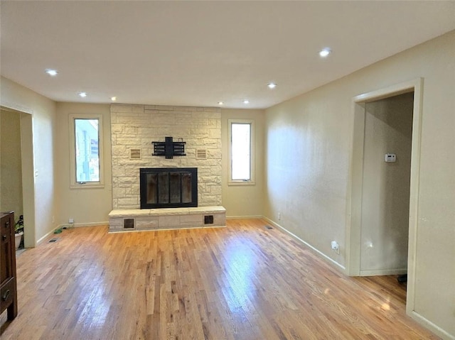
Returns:
[[[103,155],[105,186],[100,188],[70,188],[70,114],[102,114]],[[57,175],[55,185],[58,194],[56,224],[68,224],[74,219],[75,226],[107,224],[112,210],[111,128],[109,104],[57,104]]]

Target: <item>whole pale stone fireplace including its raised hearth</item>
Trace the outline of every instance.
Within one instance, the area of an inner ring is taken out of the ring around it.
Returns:
[[[185,155],[171,159],[153,155],[152,142],[164,142],[166,137],[184,143]],[[225,226],[225,209],[221,207],[219,108],[112,104],[111,142],[110,231]],[[149,175],[148,185],[152,189],[145,197],[147,204],[157,202],[156,205],[141,204],[140,169],[146,168],[161,169],[158,175]],[[196,172],[191,175],[178,172],[188,168],[196,168]],[[191,190],[184,190],[190,177]],[[164,201],[170,202],[171,209],[163,209]],[[173,205],[177,203],[183,206]]]

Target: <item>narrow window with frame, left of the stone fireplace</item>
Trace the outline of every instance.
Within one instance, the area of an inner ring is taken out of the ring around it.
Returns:
[[[70,186],[100,187],[102,174],[102,116],[70,116]]]

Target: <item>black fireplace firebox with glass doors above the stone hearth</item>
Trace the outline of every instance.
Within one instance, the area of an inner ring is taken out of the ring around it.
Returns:
[[[141,168],[141,209],[198,207],[198,168]]]

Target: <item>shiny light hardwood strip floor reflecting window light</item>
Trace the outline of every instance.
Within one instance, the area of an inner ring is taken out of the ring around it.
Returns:
[[[63,231],[17,258],[9,339],[439,339],[393,276],[349,278],[261,220]]]

